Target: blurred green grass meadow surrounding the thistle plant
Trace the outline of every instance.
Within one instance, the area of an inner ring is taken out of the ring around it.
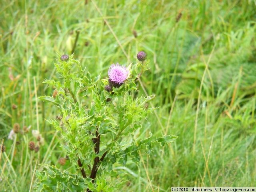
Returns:
[[[38,100],[52,94],[42,81],[56,78],[57,53],[72,54],[78,32],[74,58],[94,76],[147,52],[150,70],[139,90],[156,94],[157,109],[140,134],[178,136],[141,154],[138,165],[128,160],[118,180],[129,181],[120,190],[255,186],[255,0],[2,0],[0,191],[33,191],[36,163],[80,174],[58,163],[66,155],[61,136],[45,119],[59,112]],[[15,123],[30,132],[8,140]],[[36,129],[46,144],[35,154],[28,142]]]

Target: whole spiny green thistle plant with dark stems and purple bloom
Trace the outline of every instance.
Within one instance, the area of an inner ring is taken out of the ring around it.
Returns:
[[[46,80],[54,96],[40,99],[52,102],[62,115],[62,123],[48,120],[62,134],[70,162],[79,170],[68,172],[55,166],[37,171],[38,191],[115,191],[109,178],[121,174],[116,165],[126,165],[130,157],[139,162],[139,151],[150,154],[154,144],[164,146],[176,136],[159,138],[140,134],[147,114],[146,104],[154,96],[137,97],[137,79],[148,61],[124,66],[112,64],[108,78],[93,77],[72,56],[63,55],[55,63],[59,80]]]

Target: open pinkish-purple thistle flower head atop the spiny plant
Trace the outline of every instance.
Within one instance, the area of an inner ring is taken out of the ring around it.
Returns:
[[[124,81],[128,78],[129,71],[125,66],[120,66],[117,64],[112,64],[108,69],[108,77],[110,85],[118,88]]]

